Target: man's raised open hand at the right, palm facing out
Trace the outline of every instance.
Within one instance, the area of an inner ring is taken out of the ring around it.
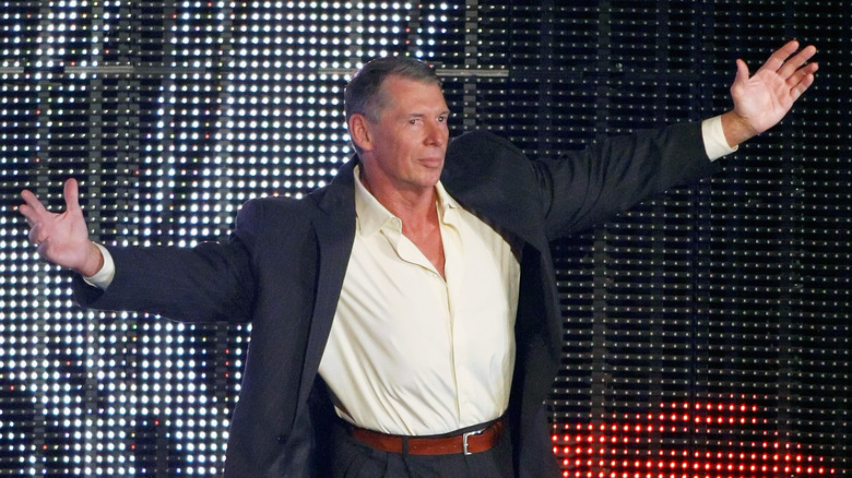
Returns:
[[[789,41],[752,76],[745,61],[736,60],[736,77],[731,85],[734,108],[722,115],[722,128],[731,147],[781,121],[814,83],[818,65],[807,61],[815,53],[813,45],[798,50],[798,41]]]

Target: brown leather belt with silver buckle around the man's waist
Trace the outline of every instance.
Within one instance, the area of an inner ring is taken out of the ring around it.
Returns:
[[[490,450],[500,439],[502,420],[482,430],[474,430],[450,437],[404,437],[353,427],[350,434],[372,449],[388,453],[410,455],[452,455],[482,453]]]

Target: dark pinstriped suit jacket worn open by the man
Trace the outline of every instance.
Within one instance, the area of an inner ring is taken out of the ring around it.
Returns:
[[[355,234],[356,160],[301,200],[247,202],[226,243],[109,248],[117,267],[109,288],[75,283],[85,307],[252,322],[227,477],[324,476],[333,411],[317,369]],[[559,367],[563,318],[548,242],[713,169],[698,124],[605,141],[556,160],[531,162],[486,132],[450,143],[447,191],[522,249],[507,411],[520,477],[557,476],[544,402]]]

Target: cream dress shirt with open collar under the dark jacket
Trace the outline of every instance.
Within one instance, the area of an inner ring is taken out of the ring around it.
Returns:
[[[446,280],[355,169],[355,241],[319,373],[338,414],[393,434],[498,418],[514,367],[520,263],[438,183]]]

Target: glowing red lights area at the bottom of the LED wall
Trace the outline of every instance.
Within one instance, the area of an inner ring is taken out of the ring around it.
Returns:
[[[778,437],[724,440],[736,428],[761,425],[748,403],[670,403],[655,414],[614,416],[599,423],[554,425],[553,451],[565,478],[761,478],[840,476],[802,443]],[[700,443],[700,445],[699,445]]]

